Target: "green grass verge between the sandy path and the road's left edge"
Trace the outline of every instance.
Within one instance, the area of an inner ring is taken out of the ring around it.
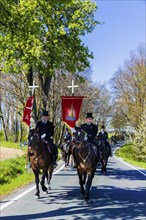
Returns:
[[[32,172],[25,169],[26,155],[0,161],[0,196],[10,194],[13,190],[34,180]]]

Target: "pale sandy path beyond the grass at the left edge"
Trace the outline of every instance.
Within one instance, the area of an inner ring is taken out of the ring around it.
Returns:
[[[0,147],[0,160],[15,158],[17,156],[22,156],[23,154],[24,152],[20,149]]]

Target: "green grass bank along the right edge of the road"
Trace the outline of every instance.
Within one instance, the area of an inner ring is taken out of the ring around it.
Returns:
[[[117,157],[123,158],[124,161],[130,164],[146,169],[146,163],[144,161],[137,160],[132,144],[123,145],[121,148],[116,150],[115,154]]]

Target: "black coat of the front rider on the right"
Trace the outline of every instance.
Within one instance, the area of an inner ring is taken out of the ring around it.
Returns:
[[[97,135],[97,132],[98,132],[97,125],[95,125],[93,123],[88,125],[86,123],[86,124],[81,125],[81,129],[83,129],[87,133],[88,141],[90,141],[90,142],[94,141],[94,139]]]

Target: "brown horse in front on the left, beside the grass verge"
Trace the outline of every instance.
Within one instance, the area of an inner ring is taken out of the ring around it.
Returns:
[[[40,198],[39,182],[44,192],[48,193],[48,188],[50,189],[49,186],[53,172],[52,145],[44,143],[44,140],[40,138],[38,130],[34,129],[29,132],[28,145],[28,154],[35,175],[35,196]],[[39,179],[40,173],[42,173],[41,181]],[[45,186],[45,179],[47,180],[48,188]]]

